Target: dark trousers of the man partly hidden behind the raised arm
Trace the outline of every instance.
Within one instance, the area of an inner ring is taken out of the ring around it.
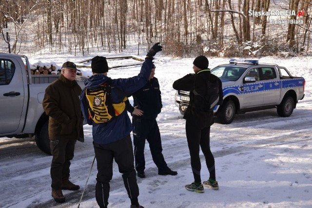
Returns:
[[[168,170],[169,168],[162,154],[160,132],[156,119],[132,118],[132,126],[136,170],[138,172],[145,170],[145,140],[147,140],[150,145],[152,158],[158,168],[158,171]]]

